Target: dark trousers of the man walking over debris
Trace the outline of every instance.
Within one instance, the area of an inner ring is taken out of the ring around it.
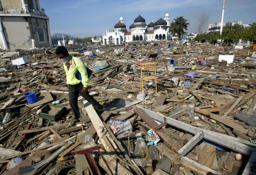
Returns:
[[[74,113],[74,118],[80,118],[80,112],[78,108],[78,96],[79,94],[87,101],[89,101],[94,108],[102,108],[102,106],[96,101],[89,93],[82,92],[83,84],[71,85],[69,84],[69,105]]]

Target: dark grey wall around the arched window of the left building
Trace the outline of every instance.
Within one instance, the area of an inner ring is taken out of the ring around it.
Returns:
[[[34,39],[36,40],[36,47],[39,47],[39,48],[49,47],[50,44],[49,44],[46,19],[31,18],[31,22],[32,22]],[[44,41],[42,42],[39,42],[39,39],[38,39],[38,33],[37,33],[38,27],[41,27],[42,29],[44,29]]]

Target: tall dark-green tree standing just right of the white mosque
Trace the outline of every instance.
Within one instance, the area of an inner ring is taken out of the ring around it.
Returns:
[[[175,22],[172,22],[169,27],[169,32],[172,32],[172,35],[175,35],[177,33],[180,39],[181,34],[185,33],[184,29],[187,30],[189,22],[187,22],[187,19],[184,19],[183,16],[174,19],[174,21]]]

